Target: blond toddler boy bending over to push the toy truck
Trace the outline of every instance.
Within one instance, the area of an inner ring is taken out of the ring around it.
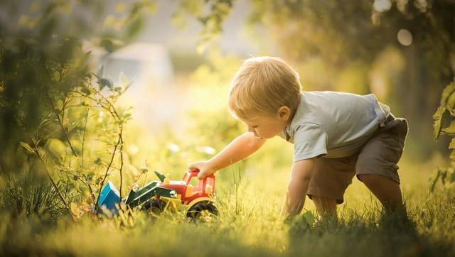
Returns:
[[[302,92],[298,73],[280,58],[245,60],[230,87],[229,109],[248,130],[210,160],[188,165],[199,179],[255,153],[267,138],[294,143],[294,163],[282,208],[301,212],[306,195],[319,215],[336,205],[354,175],[386,211],[404,209],[397,162],[407,121],[395,118],[374,94]]]

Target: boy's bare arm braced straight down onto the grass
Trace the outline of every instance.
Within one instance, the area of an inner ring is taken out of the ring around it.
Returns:
[[[291,180],[287,187],[286,199],[281,216],[288,219],[301,212],[304,207],[306,192],[313,174],[316,158],[299,160],[292,165]]]

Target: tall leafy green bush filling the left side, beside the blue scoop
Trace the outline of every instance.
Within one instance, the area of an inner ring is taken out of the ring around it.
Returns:
[[[120,74],[120,83],[114,84],[102,67],[92,72],[85,43],[112,53],[137,35],[144,13],[153,6],[134,2],[109,26],[99,18],[102,4],[45,1],[23,11],[14,1],[0,3],[9,10],[2,17],[8,22],[0,23],[1,175],[16,177],[26,169],[24,163],[38,163],[49,181],[40,188],[48,188],[75,216],[79,209],[95,209],[102,185],[117,170],[122,193],[124,126],[131,119],[129,109],[117,106],[131,83]],[[81,11],[86,15],[77,15]],[[29,177],[33,174],[8,179],[8,185]],[[16,209],[22,208],[21,199],[28,199],[14,191],[5,197],[11,199],[4,202],[18,204]]]

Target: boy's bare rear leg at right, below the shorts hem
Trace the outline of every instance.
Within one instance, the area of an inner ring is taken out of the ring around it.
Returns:
[[[359,179],[379,199],[385,211],[404,209],[400,184],[383,175],[358,174]]]

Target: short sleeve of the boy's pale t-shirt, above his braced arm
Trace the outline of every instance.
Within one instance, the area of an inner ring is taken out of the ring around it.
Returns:
[[[301,124],[294,132],[294,162],[327,154],[328,136],[317,124]]]

